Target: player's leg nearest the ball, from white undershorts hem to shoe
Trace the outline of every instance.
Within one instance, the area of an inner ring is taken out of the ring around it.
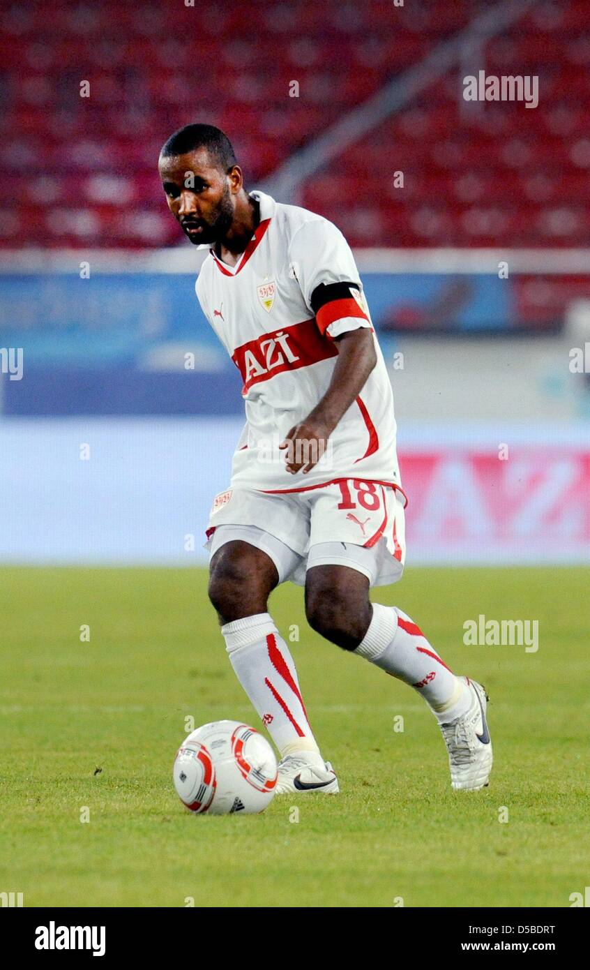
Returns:
[[[282,760],[303,759],[306,766],[320,769],[322,777],[313,771],[304,776],[304,783],[320,786],[326,782],[326,762],[307,718],[291,651],[267,611],[270,593],[297,560],[293,550],[263,530],[222,525],[212,548],[209,598],[219,614],[233,670]],[[279,772],[277,793],[280,781]],[[337,791],[337,784],[332,790]]]

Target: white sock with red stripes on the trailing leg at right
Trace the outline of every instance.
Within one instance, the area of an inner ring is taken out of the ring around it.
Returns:
[[[396,606],[373,603],[369,629],[355,653],[416,688],[441,724],[469,710],[471,692]]]

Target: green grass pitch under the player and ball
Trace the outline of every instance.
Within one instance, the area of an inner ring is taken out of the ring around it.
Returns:
[[[301,590],[279,589],[270,609],[283,633],[299,626],[295,663],[341,794],[223,818],[190,815],[171,784],[187,716],[264,729],[205,584],[202,569],[0,569],[0,891],[28,907],[568,907],[583,893],[590,569],[414,568],[374,591],[486,686],[481,792],[451,791],[416,692],[312,633]],[[465,646],[480,613],[539,620],[538,652]]]

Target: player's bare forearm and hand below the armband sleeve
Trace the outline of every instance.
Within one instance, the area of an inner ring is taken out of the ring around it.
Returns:
[[[327,439],[340,418],[357,399],[367,377],[377,363],[375,341],[371,330],[359,327],[334,338],[338,359],[322,400],[285,436],[280,448],[289,449],[287,470],[303,474],[317,465],[326,451]],[[291,448],[290,448],[291,442]],[[300,442],[299,447],[296,447]],[[301,461],[301,456],[309,461]]]

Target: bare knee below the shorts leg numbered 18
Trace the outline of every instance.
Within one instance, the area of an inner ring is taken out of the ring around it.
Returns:
[[[326,640],[354,650],[370,619],[368,598],[365,605],[364,599],[357,602],[344,590],[314,586],[306,591],[305,615],[309,626]]]

